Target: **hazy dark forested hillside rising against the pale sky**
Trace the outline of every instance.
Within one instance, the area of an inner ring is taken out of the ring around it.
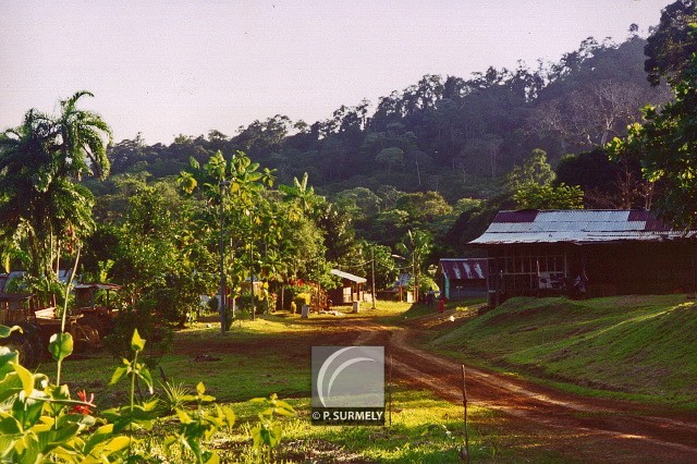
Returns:
[[[559,63],[515,70],[490,68],[469,78],[425,75],[380,98],[342,106],[325,121],[273,115],[228,136],[180,136],[170,146],[123,141],[110,152],[112,172],[175,175],[188,158],[243,150],[277,169],[280,182],[309,174],[323,193],[353,187],[437,191],[449,202],[482,196],[534,148],[554,164],[563,155],[626,133],[639,109],[665,100],[644,72],[646,41],[592,38]],[[484,182],[482,182],[484,181]]]

